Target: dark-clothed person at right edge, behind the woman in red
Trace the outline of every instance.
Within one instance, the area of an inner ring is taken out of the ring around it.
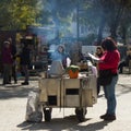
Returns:
[[[131,60],[131,48],[127,51],[126,59],[119,63],[119,67],[118,67],[119,73],[123,72],[123,67],[129,67],[130,60]]]

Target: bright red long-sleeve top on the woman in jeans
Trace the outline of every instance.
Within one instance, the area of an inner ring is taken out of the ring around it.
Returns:
[[[117,73],[120,61],[120,53],[117,49],[114,51],[105,51],[100,57],[100,61],[102,62],[98,63],[99,70],[111,69],[112,73]]]

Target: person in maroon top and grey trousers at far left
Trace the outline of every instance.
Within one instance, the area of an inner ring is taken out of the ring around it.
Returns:
[[[3,64],[3,85],[11,84],[11,69],[13,57],[11,53],[10,41],[4,41],[2,49],[2,64]]]

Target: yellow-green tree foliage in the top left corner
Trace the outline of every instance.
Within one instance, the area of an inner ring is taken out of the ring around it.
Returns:
[[[8,3],[8,4],[7,4]],[[36,24],[39,13],[37,0],[2,0],[0,14],[2,29],[25,29],[27,25]]]

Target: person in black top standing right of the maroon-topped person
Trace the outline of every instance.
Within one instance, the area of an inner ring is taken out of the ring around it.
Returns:
[[[22,85],[28,85],[28,79],[29,79],[29,73],[28,73],[28,66],[31,63],[31,57],[29,57],[29,45],[28,44],[23,44],[23,49],[21,52],[21,67],[22,71],[25,75],[25,81],[22,83]]]

